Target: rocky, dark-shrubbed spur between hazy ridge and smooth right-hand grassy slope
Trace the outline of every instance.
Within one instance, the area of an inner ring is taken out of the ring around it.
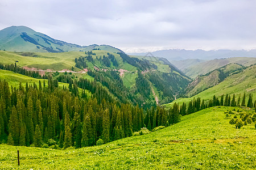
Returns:
[[[185,96],[194,96],[201,91],[207,90],[209,87],[216,86],[229,75],[237,73],[237,71],[242,71],[243,69],[244,67],[241,65],[228,64],[219,69],[210,71],[205,75],[197,76],[193,82],[188,84],[188,87],[185,90]]]

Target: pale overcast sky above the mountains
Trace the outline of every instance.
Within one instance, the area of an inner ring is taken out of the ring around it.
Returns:
[[[1,0],[0,29],[25,25],[79,45],[126,53],[256,49],[255,0]]]

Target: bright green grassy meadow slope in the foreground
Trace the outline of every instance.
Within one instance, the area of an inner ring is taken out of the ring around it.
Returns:
[[[224,113],[233,109],[204,109],[165,129],[102,146],[53,150],[0,145],[0,169],[255,169],[254,123],[235,129]]]

